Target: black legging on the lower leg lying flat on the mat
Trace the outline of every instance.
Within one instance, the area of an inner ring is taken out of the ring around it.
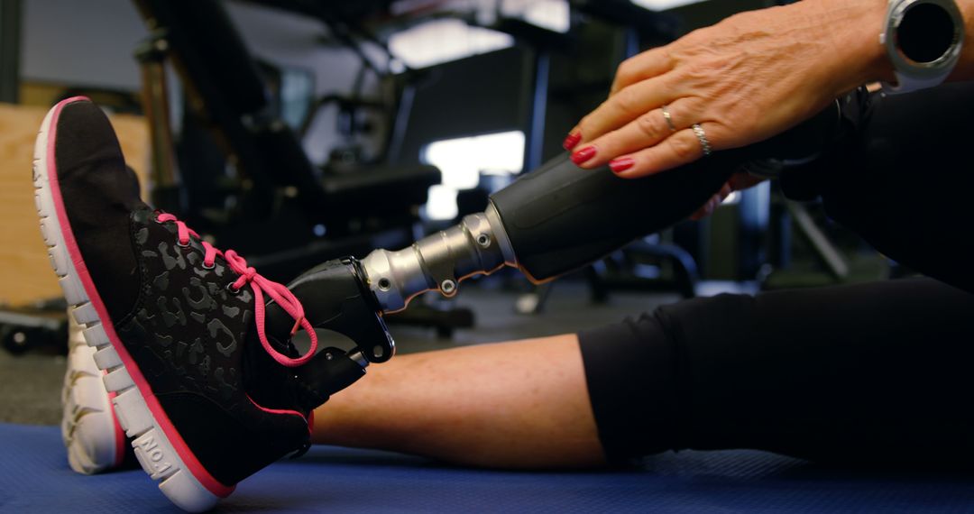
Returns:
[[[613,459],[974,460],[974,295],[929,278],[720,295],[580,334]]]

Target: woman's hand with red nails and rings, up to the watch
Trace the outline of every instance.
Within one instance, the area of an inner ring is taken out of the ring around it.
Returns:
[[[885,3],[805,0],[742,13],[636,55],[565,146],[581,167],[640,177],[766,139],[885,78]]]

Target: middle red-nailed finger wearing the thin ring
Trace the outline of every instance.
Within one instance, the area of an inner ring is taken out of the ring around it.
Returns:
[[[698,101],[695,99],[684,98],[670,105],[653,109],[629,122],[625,127],[603,134],[591,143],[582,145],[573,154],[573,160],[581,167],[596,167],[605,165],[620,155],[654,146],[677,130],[690,128],[693,125],[692,121],[698,118],[697,104]],[[587,151],[588,148],[594,148],[595,152]],[[624,170],[625,163],[628,161],[623,162],[623,165],[614,166],[614,170]]]

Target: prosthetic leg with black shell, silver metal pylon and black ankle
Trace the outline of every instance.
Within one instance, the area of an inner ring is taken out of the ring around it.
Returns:
[[[318,360],[327,362],[303,366],[298,377],[323,402],[361,377],[368,363],[392,358],[393,338],[382,316],[405,309],[417,295],[436,290],[452,297],[465,278],[505,266],[535,283],[581,268],[686,218],[742,165],[812,159],[840,120],[837,101],[766,142],[640,179],[619,178],[608,167],[581,169],[564,155],[494,194],[484,212],[408,248],[323,263],[288,287],[313,325],[344,334],[356,349],[322,351]],[[281,337],[293,324],[280,309],[268,310],[268,326],[279,327]]]

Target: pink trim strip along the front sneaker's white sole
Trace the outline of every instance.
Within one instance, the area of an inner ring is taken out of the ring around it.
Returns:
[[[118,334],[115,332],[115,326],[111,322],[111,317],[109,317],[108,311],[105,309],[104,304],[101,302],[101,297],[98,295],[98,291],[94,287],[92,275],[88,272],[88,267],[85,265],[85,260],[81,256],[81,250],[78,248],[78,243],[74,239],[74,233],[71,231],[71,225],[68,222],[67,213],[64,211],[64,202],[62,201],[60,195],[60,186],[57,181],[55,146],[57,140],[57,120],[60,116],[60,112],[67,104],[74,103],[76,101],[91,100],[85,96],[73,96],[71,98],[61,100],[55,106],[51,119],[51,127],[48,133],[47,148],[48,183],[51,185],[51,195],[54,198],[57,220],[60,223],[61,236],[64,238],[64,243],[67,247],[68,254],[71,256],[71,263],[74,265],[74,269],[78,273],[78,278],[81,280],[82,286],[85,288],[89,301],[92,303],[92,305],[94,305],[94,310],[98,313],[98,317],[101,319],[102,327],[105,330],[105,334],[108,336],[108,340],[112,344],[112,348],[115,349],[119,357],[122,359],[126,372],[129,373],[132,382],[134,382],[135,386],[138,388],[139,394],[149,407],[152,417],[159,424],[159,427],[162,428],[167,438],[169,438],[169,443],[173,446],[173,449],[179,455],[179,458],[183,460],[183,463],[186,464],[189,471],[193,474],[196,480],[206,488],[207,491],[212,493],[214,496],[229,496],[231,493],[233,493],[235,488],[233,486],[226,486],[220,483],[218,480],[213,478],[208,471],[206,471],[206,467],[203,466],[200,460],[197,459],[193,452],[189,449],[182,436],[179,435],[179,431],[172,426],[172,422],[169,421],[169,416],[166,415],[166,411],[164,411],[162,406],[159,404],[159,400],[156,399],[155,394],[153,394],[152,388],[145,381],[145,378],[142,376],[142,373],[135,364],[135,361],[131,358],[129,351],[122,344]],[[116,420],[116,423],[117,422],[118,421]]]

